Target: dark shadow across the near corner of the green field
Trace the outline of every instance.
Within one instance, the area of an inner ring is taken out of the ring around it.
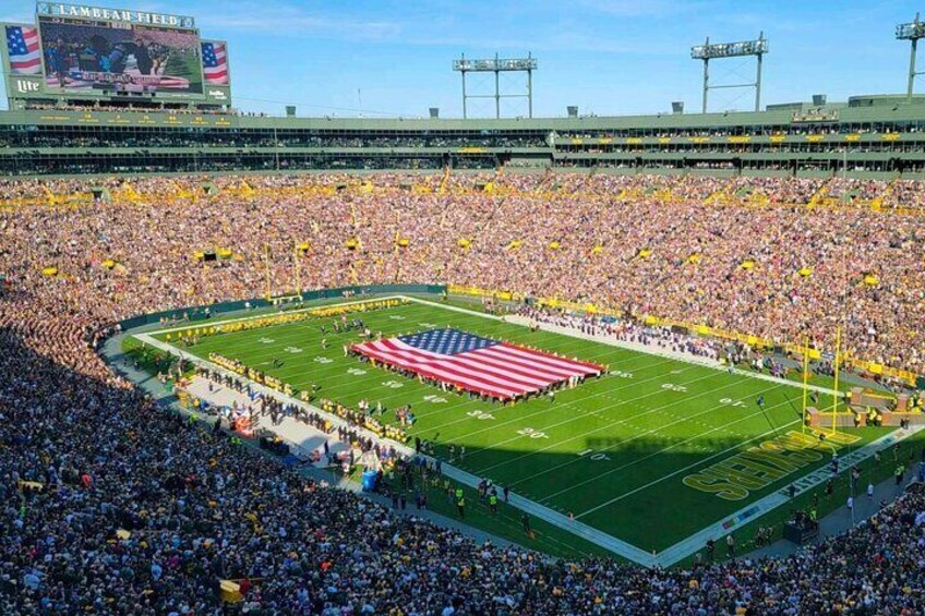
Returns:
[[[788,407],[755,414],[735,427],[738,432],[723,431],[724,436],[627,432],[584,437],[570,443],[569,454],[543,451],[552,446],[525,436],[516,442],[518,449],[469,449],[460,460],[460,446],[440,445],[436,455],[448,461],[452,451],[454,466],[491,479],[500,488],[508,486],[639,547],[660,551],[785,490],[827,466],[836,450],[831,442],[808,431],[802,434],[798,416]],[[858,438],[837,449],[843,455],[863,443]],[[873,462],[861,471],[866,485]]]

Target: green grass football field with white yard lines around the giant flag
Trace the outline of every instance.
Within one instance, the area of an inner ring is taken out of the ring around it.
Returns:
[[[726,461],[726,471],[734,474],[736,454],[798,434],[803,396],[798,387],[572,336],[530,331],[437,303],[411,303],[359,316],[385,336],[454,327],[608,364],[611,373],[562,390],[554,401],[544,398],[504,406],[470,399],[345,357],[344,345],[360,338],[356,331],[332,334],[334,317],[204,337],[182,350],[241,361],[297,390],[319,384],[320,397],[355,408],[361,399],[373,406],[382,401],[389,410],[411,404],[417,423],[410,436],[433,442],[442,459],[449,461],[454,448],[454,466],[647,552],[660,552],[742,510],[825,466],[831,457],[831,445],[807,447],[815,454],[804,456],[798,468],[726,499],[704,488],[700,473],[716,472],[717,464]],[[321,325],[327,326],[327,334],[321,333]],[[167,335],[159,333],[155,338],[164,341]],[[323,338],[327,349],[322,347]],[[274,360],[283,364],[274,367]],[[764,408],[757,404],[759,396]],[[384,419],[395,422],[392,412]],[[854,443],[843,451],[887,432],[846,430]],[[805,462],[808,458],[814,459]],[[699,482],[685,482],[698,475]]]

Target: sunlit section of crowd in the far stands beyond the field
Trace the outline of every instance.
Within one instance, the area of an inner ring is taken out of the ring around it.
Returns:
[[[292,246],[305,242],[303,288],[454,282],[776,342],[802,343],[808,335],[828,350],[842,324],[851,355],[925,372],[918,218],[788,205],[808,202],[821,180],[755,179],[746,186],[718,178],[459,173],[441,194],[441,174],[421,178],[146,179],[131,192],[99,181],[113,203],[7,215],[0,271],[35,291],[31,306],[53,313],[89,305],[85,318],[110,322],[153,305],[251,297],[265,288],[265,244],[273,288],[291,291]],[[29,181],[9,184],[15,197],[44,191]],[[208,196],[206,184],[218,193]],[[866,190],[832,188],[839,195]],[[73,194],[86,185],[62,180],[48,190]],[[764,194],[767,206],[704,206],[720,193]],[[218,247],[236,257],[194,257]],[[119,266],[103,267],[107,259]],[[45,278],[43,267],[59,275]]]

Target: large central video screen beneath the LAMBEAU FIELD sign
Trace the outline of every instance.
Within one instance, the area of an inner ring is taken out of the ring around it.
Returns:
[[[39,19],[39,29],[49,88],[203,93],[196,31],[57,17]]]

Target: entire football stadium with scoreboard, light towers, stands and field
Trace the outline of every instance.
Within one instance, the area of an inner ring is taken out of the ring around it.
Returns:
[[[903,94],[765,105],[761,34],[556,118],[532,55],[277,117],[196,17],[2,27],[0,613],[925,613],[917,16]]]

